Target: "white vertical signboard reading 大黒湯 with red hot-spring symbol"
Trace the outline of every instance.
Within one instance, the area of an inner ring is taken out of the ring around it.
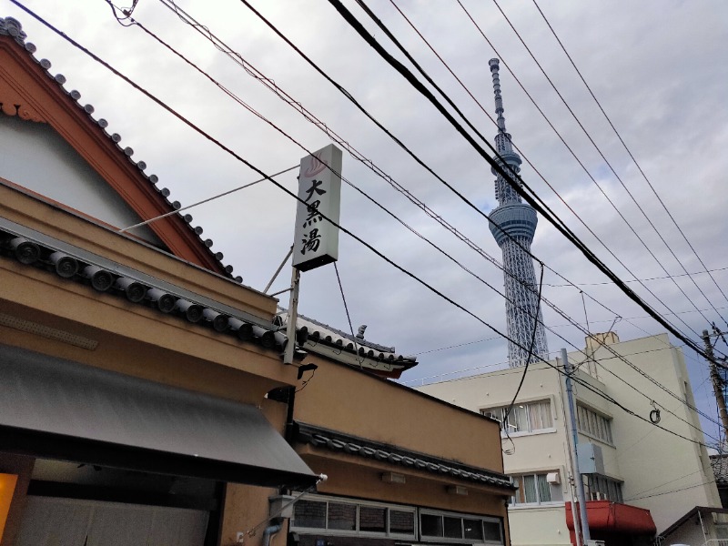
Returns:
[[[341,150],[333,144],[301,159],[293,267],[319,268],[339,259]]]

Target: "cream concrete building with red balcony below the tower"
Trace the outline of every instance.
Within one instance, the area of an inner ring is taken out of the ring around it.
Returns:
[[[666,334],[620,342],[610,332],[586,343],[584,350],[568,355],[578,368],[577,379],[642,417],[582,385],[574,388],[591,538],[607,544],[649,543],[655,531],[673,534],[674,524],[689,520],[684,517],[695,507],[716,514],[706,518],[706,540],[723,538],[721,502],[701,445],[698,415],[681,401],[694,407],[682,350]],[[514,546],[555,546],[572,539],[566,398],[563,377],[553,364],[531,364],[506,423],[511,440],[501,432],[505,471],[520,486],[509,507]],[[419,389],[502,420],[522,373],[522,368],[503,369]],[[657,428],[651,419],[675,434]],[[693,516],[694,527],[696,512]]]

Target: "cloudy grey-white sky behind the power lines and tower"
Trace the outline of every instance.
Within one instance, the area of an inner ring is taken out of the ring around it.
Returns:
[[[480,30],[454,0],[396,0],[396,6],[379,0],[369,7],[489,139],[496,129],[488,60],[501,57],[506,124],[524,158],[521,174],[527,184],[676,329],[698,342],[711,321],[728,330],[723,319],[728,319],[728,4],[720,0],[540,3],[637,167],[535,3],[499,0],[511,27],[495,2],[461,1]],[[470,203],[485,213],[496,206],[488,164],[329,3],[251,2]],[[159,185],[171,190],[171,198],[184,206],[259,178],[30,15],[7,0],[2,5],[0,15],[14,16],[24,25],[28,41],[37,46],[35,55],[48,58],[53,63],[51,71],[66,76],[66,87],[77,89],[81,102],[95,106],[95,116],[109,121],[108,130],[122,136],[122,146],[134,148],[134,158],[147,163],[147,174],[157,174]],[[134,19],[270,124],[138,26],[117,23],[102,0],[64,2],[53,9],[39,0],[26,0],[25,5],[268,174],[296,166],[300,157],[331,142],[296,108],[212,45],[204,29],[198,33],[162,2],[141,0]],[[236,0],[180,0],[178,5],[356,148],[380,173],[427,204],[485,253],[501,259],[484,217],[416,163],[246,5]],[[410,66],[356,3],[345,0],[345,5],[393,56]],[[495,329],[505,331],[503,298],[488,286],[502,289],[500,269],[346,153],[343,176],[371,197],[344,184],[343,226]],[[294,189],[296,171],[278,181]],[[292,198],[264,182],[189,212],[194,224],[204,227],[206,236],[214,240],[213,248],[224,253],[223,261],[234,266],[235,274],[249,287],[262,290],[291,244],[294,211]],[[462,268],[428,241],[458,260]],[[547,266],[544,297],[569,317],[549,306],[543,308],[553,353],[561,347],[581,349],[581,329],[599,332],[612,327],[623,340],[664,331],[543,218],[532,250]],[[346,235],[340,239],[338,267],[354,329],[367,324],[368,339],[418,355],[420,365],[403,378],[407,384],[505,365],[507,343],[493,330]],[[692,275],[686,276],[685,271]],[[284,268],[269,291],[286,288],[288,280],[289,269]],[[282,297],[282,303],[287,305],[288,298]],[[332,266],[303,275],[299,309],[348,329]],[[728,352],[723,342],[716,349]],[[699,407],[715,415],[704,361],[689,349],[686,359]],[[646,414],[650,408],[634,410]],[[704,424],[714,436],[714,426]]]

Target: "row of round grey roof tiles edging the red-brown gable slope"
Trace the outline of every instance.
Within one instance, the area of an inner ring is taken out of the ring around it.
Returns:
[[[13,38],[15,43],[22,47],[28,56],[30,56],[31,59],[37,64],[38,66],[42,67],[45,71],[46,76],[50,80],[53,80],[56,85],[63,91],[63,93],[68,97],[70,104],[80,108],[86,113],[87,118],[98,127],[98,131],[100,134],[103,134],[106,136],[109,141],[111,141],[114,146],[116,147],[116,150],[118,153],[125,157],[126,160],[131,163],[133,166],[136,167],[138,170],[138,174],[143,177],[144,180],[147,181],[150,187],[153,187],[158,195],[163,198],[164,202],[167,204],[167,212],[175,211],[179,208],[181,208],[181,204],[178,201],[172,201],[170,200],[170,192],[167,189],[167,187],[160,187],[159,185],[159,178],[157,175],[147,175],[145,172],[147,170],[147,163],[144,161],[135,161],[132,159],[132,156],[134,156],[134,149],[131,147],[123,147],[119,143],[121,142],[121,136],[118,133],[111,133],[108,130],[108,122],[103,117],[96,118],[94,117],[95,108],[94,106],[90,104],[84,105],[80,102],[81,94],[74,90],[68,91],[66,89],[66,76],[62,74],[52,74],[50,72],[51,69],[51,62],[45,58],[38,59],[35,57],[35,50],[36,47],[34,44],[30,42],[25,42],[25,38],[27,35],[25,35],[25,32],[23,31],[22,25],[13,17],[0,17],[0,36],[7,35]],[[0,112],[3,112],[4,109],[12,107],[12,105],[0,105]],[[23,113],[10,113],[5,112],[5,114],[10,115],[18,115],[21,118],[27,118],[23,116]],[[203,228],[199,226],[192,225],[193,217],[190,214],[181,214],[177,213],[177,217],[179,217],[181,220],[184,221],[185,224],[187,224],[187,228],[194,233],[195,238],[197,239],[199,245],[201,248],[206,248],[207,254],[212,258],[219,266],[220,271],[224,272],[228,277],[232,278],[232,271],[233,267],[231,265],[225,265],[222,263],[222,259],[224,258],[222,252],[215,252],[212,250],[213,241],[210,238],[203,238]],[[148,218],[143,218],[148,219]],[[238,282],[242,282],[241,277],[236,277],[235,280]]]

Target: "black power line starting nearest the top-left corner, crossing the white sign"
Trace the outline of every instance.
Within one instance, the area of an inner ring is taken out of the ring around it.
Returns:
[[[50,23],[48,23],[47,21],[45,21],[45,19],[43,19],[42,17],[40,17],[39,15],[36,15],[32,10],[30,10],[27,7],[25,7],[25,5],[20,4],[17,0],[11,0],[11,2],[13,4],[15,4],[16,6],[20,7],[21,9],[23,9],[28,15],[33,16],[36,20],[38,20],[40,23],[42,23],[43,25],[45,25],[46,27],[48,27],[50,30],[52,30],[53,32],[55,32],[57,35],[59,35],[62,38],[64,38],[71,45],[74,45],[76,48],[78,48],[79,50],[83,51],[87,56],[90,56],[97,63],[99,63],[102,66],[105,66],[106,69],[110,70],[116,76],[118,76],[121,79],[123,79],[124,81],[126,81],[126,83],[128,85],[133,86],[137,91],[139,91],[143,95],[147,96],[147,98],[151,99],[154,103],[157,104],[157,106],[161,106],[162,108],[164,108],[165,110],[167,110],[168,113],[170,113],[173,116],[177,117],[178,120],[182,121],[185,125],[189,126],[193,130],[195,130],[199,135],[204,136],[205,138],[207,138],[208,140],[210,140],[210,142],[214,143],[217,147],[220,147],[220,149],[222,149],[225,152],[227,152],[227,154],[229,154],[232,157],[235,157],[239,162],[243,163],[244,165],[246,165],[247,167],[251,168],[252,170],[258,172],[259,175],[261,175],[263,177],[266,177],[266,179],[268,179],[274,186],[278,187],[281,191],[283,191],[284,193],[288,194],[288,196],[293,197],[297,201],[301,201],[302,202],[302,200],[299,199],[298,196],[296,196],[293,192],[291,192],[290,190],[288,190],[288,188],[283,187],[276,180],[274,180],[273,178],[271,178],[268,175],[266,175],[266,173],[263,172],[261,169],[259,169],[258,167],[254,166],[252,163],[248,162],[248,160],[246,160],[245,158],[239,156],[236,152],[234,152],[229,147],[226,147],[224,144],[222,144],[215,137],[209,135],[207,132],[205,132],[204,130],[202,130],[199,126],[197,126],[194,123],[192,123],[191,121],[189,121],[185,116],[182,116],[181,114],[179,114],[171,106],[168,106],[166,103],[164,103],[163,101],[161,101],[159,98],[157,98],[157,96],[152,95],[144,87],[139,86],[138,84],[136,84],[136,82],[134,82],[133,80],[131,80],[129,77],[123,75],[121,72],[119,72],[118,70],[116,70],[116,68],[114,68],[113,66],[109,65],[108,63],[106,63],[106,61],[104,61],[100,57],[96,56],[91,51],[89,51],[86,47],[84,47],[83,45],[78,44],[76,42],[76,40],[74,40],[73,38],[69,37],[65,33],[63,33],[60,30],[58,30],[54,25],[51,25]],[[384,254],[382,254],[379,250],[377,250],[376,248],[372,247],[369,243],[367,243],[366,241],[364,241],[363,239],[359,238],[357,235],[355,235],[354,233],[352,233],[346,227],[340,226],[337,222],[334,222],[330,218],[325,217],[323,214],[321,214],[321,216],[324,217],[325,219],[327,219],[333,226],[338,227],[341,231],[343,231],[344,233],[346,233],[347,235],[349,235],[349,237],[354,238],[361,245],[365,246],[366,248],[369,248],[369,250],[371,252],[373,252],[379,258],[381,258],[384,261],[386,261],[387,263],[389,263],[390,266],[399,269],[400,272],[402,272],[405,275],[407,275],[408,277],[416,280],[423,287],[428,288],[432,293],[436,294],[440,298],[442,298],[442,299],[446,300],[447,302],[449,302],[450,305],[453,305],[454,307],[460,308],[460,310],[462,310],[463,312],[465,312],[468,315],[470,315],[470,317],[472,317],[473,319],[478,320],[481,324],[483,324],[487,328],[492,329],[494,332],[496,332],[497,334],[501,335],[501,337],[503,337],[505,339],[509,339],[505,334],[502,334],[498,329],[495,329],[494,327],[490,326],[490,324],[488,322],[486,322],[483,319],[480,319],[480,317],[478,317],[475,313],[473,313],[469,309],[463,307],[461,304],[457,303],[453,299],[447,297],[442,292],[440,292],[437,288],[432,287],[429,283],[427,283],[426,281],[424,281],[421,278],[417,277],[415,274],[411,273],[406,268],[403,268],[402,266],[400,266],[399,264],[397,264],[396,262],[394,262],[392,259],[390,259],[387,256],[385,256]],[[518,344],[517,341],[513,341],[513,342],[516,343],[516,344]],[[521,349],[524,349],[524,348],[521,348]],[[550,366],[551,368],[557,369],[557,371],[559,371],[559,373],[561,373],[562,375],[564,374],[563,370],[559,369],[557,366],[552,365],[550,362],[546,362],[546,361],[544,361],[544,362],[548,366]],[[612,404],[614,404],[616,407],[618,407],[621,410],[627,412],[628,414],[633,415],[633,416],[637,417],[640,420],[644,420],[645,422],[650,422],[649,420],[646,420],[645,418],[643,418],[641,415],[635,413],[632,410],[629,410],[628,408],[626,408],[625,406],[623,406],[621,403],[619,403],[616,399],[614,399],[612,396],[604,393],[602,390],[595,389],[590,384],[588,384],[586,382],[583,382],[583,381],[581,381],[579,379],[576,379],[575,378],[574,380],[578,384],[581,384],[585,389],[591,390],[592,392],[596,393],[598,396],[601,396],[602,398],[607,399],[608,401],[612,402]],[[679,434],[679,433],[674,432],[672,430],[665,429],[664,427],[660,426],[659,424],[655,424],[655,423],[651,423],[651,424],[653,426],[655,426],[655,427],[658,427],[658,428],[660,428],[662,430],[665,430],[665,431],[669,432],[670,434],[672,434],[672,435],[674,435],[676,437],[682,438],[683,440],[688,440],[688,441],[690,441],[692,443],[696,443],[696,444],[699,444],[699,445],[705,445],[705,444],[703,444],[703,442],[700,442],[698,440],[693,440],[693,439],[688,438],[686,436],[682,436],[682,434]]]

